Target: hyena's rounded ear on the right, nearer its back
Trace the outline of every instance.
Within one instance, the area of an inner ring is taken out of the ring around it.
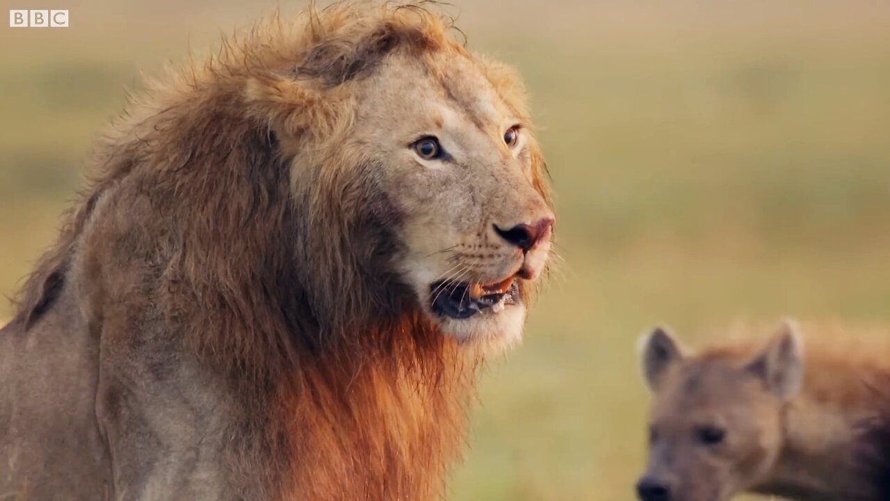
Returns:
[[[745,370],[761,378],[783,402],[797,395],[804,381],[804,341],[794,320],[784,320],[763,352]]]

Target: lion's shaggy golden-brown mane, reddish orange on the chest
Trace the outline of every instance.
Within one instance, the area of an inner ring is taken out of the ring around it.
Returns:
[[[393,285],[404,215],[341,145],[356,94],[391,54],[441,79],[445,58],[461,58],[530,125],[514,71],[469,53],[450,28],[417,6],[338,4],[272,18],[150,82],[101,142],[11,328],[40,328],[77,290],[102,357],[119,352],[159,378],[194,357],[228,406],[218,459],[229,496],[441,495],[493,341],[443,335]],[[532,138],[528,148],[549,206]],[[122,414],[138,403],[125,379],[98,385],[106,434],[127,431],[135,412]]]

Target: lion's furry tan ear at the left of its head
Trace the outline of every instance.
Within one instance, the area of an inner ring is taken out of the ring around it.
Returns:
[[[256,119],[268,121],[273,129],[289,136],[329,135],[344,98],[337,89],[321,91],[308,81],[277,75],[254,76],[247,79],[245,99]]]

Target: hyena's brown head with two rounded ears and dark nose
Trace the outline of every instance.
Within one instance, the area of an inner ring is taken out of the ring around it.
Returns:
[[[687,355],[665,329],[640,344],[653,394],[643,501],[723,501],[766,480],[781,448],[781,415],[800,389],[796,324],[785,322],[755,355]]]

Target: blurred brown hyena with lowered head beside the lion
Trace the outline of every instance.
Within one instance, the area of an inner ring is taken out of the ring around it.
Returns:
[[[851,355],[849,344],[838,335],[805,354],[790,320],[765,346],[746,341],[700,354],[663,328],[644,336],[653,401],[639,498],[724,501],[751,491],[890,499],[890,398],[880,391],[890,386],[890,350]]]

